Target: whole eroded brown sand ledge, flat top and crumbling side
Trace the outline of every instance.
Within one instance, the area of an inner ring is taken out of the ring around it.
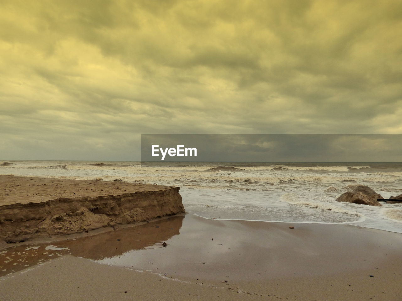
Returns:
[[[184,213],[179,187],[0,176],[0,239],[88,232]]]

